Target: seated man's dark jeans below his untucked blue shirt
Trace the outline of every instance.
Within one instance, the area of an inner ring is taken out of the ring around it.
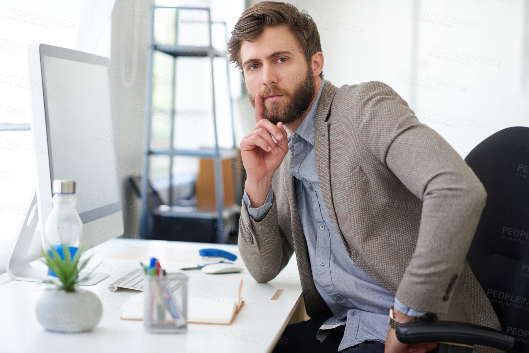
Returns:
[[[287,325],[273,353],[338,352],[343,330],[331,329],[329,336],[322,343],[316,339],[318,328],[327,319],[329,318],[326,315],[314,315],[310,320]],[[341,353],[384,353],[384,343],[363,341],[342,350]]]

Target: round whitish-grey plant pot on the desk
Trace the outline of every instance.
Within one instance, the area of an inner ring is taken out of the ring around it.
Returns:
[[[84,332],[93,330],[101,320],[103,306],[93,292],[85,289],[66,292],[53,288],[41,295],[35,314],[46,330]]]

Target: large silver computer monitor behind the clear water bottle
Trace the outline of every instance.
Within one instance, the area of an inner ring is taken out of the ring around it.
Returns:
[[[30,78],[42,83],[42,89],[40,85],[32,89],[36,204],[41,221],[35,234],[41,234],[45,248],[43,229],[52,210],[53,179],[75,180],[76,207],[83,221],[81,243],[95,246],[107,240],[106,234],[123,234],[120,186],[115,175],[110,62],[108,58],[46,44],[40,44],[39,49],[38,53],[29,53]],[[29,235],[23,237],[23,232],[19,237],[23,244],[17,243],[19,250],[13,252],[19,257],[25,251],[20,249],[29,248],[28,240],[23,239]],[[24,273],[20,268],[18,272]],[[35,276],[14,277],[31,280]]]

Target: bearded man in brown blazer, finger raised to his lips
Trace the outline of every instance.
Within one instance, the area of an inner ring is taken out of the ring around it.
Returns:
[[[296,251],[311,316],[275,352],[436,349],[397,340],[417,320],[500,329],[465,259],[487,194],[458,153],[388,85],[323,79],[316,25],[292,5],[248,8],[228,50],[256,108],[241,257],[266,283]]]

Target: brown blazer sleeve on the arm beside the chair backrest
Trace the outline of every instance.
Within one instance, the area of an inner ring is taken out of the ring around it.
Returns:
[[[423,202],[416,248],[396,297],[418,311],[447,313],[485,207],[485,188],[450,144],[419,122],[391,87],[367,82],[352,92],[353,124],[360,138]],[[450,251],[428,243],[441,243]]]

